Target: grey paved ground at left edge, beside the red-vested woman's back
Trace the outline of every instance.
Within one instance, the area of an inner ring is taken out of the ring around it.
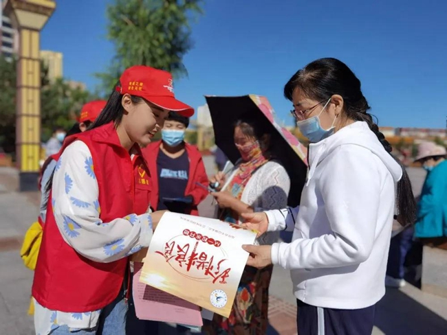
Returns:
[[[27,310],[32,271],[23,266],[19,249],[26,229],[37,218],[39,194],[19,194],[17,172],[0,168],[0,335],[34,333]]]

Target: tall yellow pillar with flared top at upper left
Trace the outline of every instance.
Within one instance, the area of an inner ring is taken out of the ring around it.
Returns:
[[[20,191],[37,189],[41,150],[40,32],[55,8],[52,0],[7,0],[4,7],[19,32],[16,155]]]

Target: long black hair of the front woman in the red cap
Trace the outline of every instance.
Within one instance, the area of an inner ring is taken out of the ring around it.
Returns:
[[[118,82],[116,84],[116,87],[120,86],[121,84],[120,82]],[[122,107],[121,101],[122,101],[122,94],[118,92],[116,89],[113,89],[111,95],[109,96],[109,100],[107,100],[107,104],[102,109],[100,115],[98,115],[96,120],[92,124],[90,124],[87,130],[104,126],[105,124],[109,124],[110,122],[114,122],[115,126],[118,126],[121,123],[122,115],[124,114],[124,108]],[[144,101],[144,99],[136,95],[131,95],[131,101],[133,104],[140,104],[141,102]],[[47,185],[45,185],[45,194],[47,196],[47,201],[48,201],[48,195],[50,194],[50,190],[53,187],[53,176],[54,171],[52,172],[52,175],[50,176]],[[45,204],[45,206],[46,205],[47,204]]]

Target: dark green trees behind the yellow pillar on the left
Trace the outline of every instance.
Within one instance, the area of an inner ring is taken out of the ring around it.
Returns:
[[[6,60],[0,55],[0,148],[5,152],[15,150],[16,132],[16,60]],[[88,91],[71,88],[59,78],[50,82],[48,69],[41,63],[41,139],[46,141],[56,126],[71,127],[80,108],[94,99]]]

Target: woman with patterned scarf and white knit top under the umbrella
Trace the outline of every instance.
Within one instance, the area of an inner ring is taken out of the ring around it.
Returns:
[[[290,178],[285,168],[269,152],[274,137],[267,120],[241,119],[235,124],[234,140],[241,159],[227,175],[219,172],[211,182],[221,189],[212,193],[221,208],[219,218],[241,223],[241,213],[280,209],[287,205]],[[259,244],[272,244],[278,233],[259,238]],[[268,327],[268,287],[272,266],[258,270],[246,266],[237,290],[232,312],[227,318],[215,314],[210,334],[266,334]]]

